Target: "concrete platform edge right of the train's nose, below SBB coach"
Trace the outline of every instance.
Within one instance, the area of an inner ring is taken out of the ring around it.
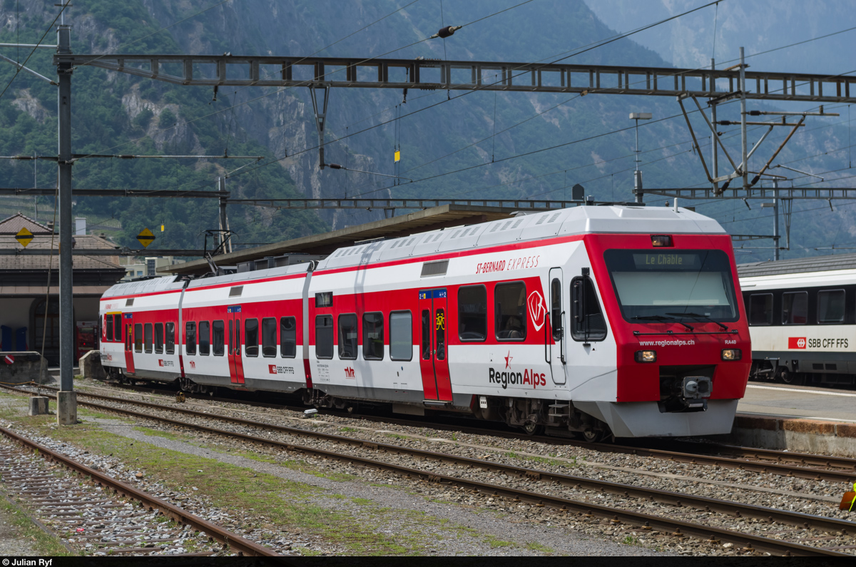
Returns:
[[[730,435],[717,441],[856,457],[856,393],[750,383]]]

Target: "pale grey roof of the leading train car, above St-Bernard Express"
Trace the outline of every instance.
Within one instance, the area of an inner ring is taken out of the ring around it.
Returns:
[[[514,218],[357,243],[339,248],[318,270],[359,266],[469,248],[580,234],[725,234],[716,220],[687,209],[653,206],[576,206]]]

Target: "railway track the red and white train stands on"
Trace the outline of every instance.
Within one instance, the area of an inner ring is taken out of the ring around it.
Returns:
[[[56,390],[51,386],[42,386],[49,390]],[[122,385],[122,388],[133,391],[149,391],[152,394],[175,395],[175,391],[159,390],[147,386]],[[186,394],[187,395],[187,394]],[[92,394],[92,396],[97,396]],[[189,396],[189,395],[188,395]],[[246,403],[249,405],[272,408],[303,411],[306,408],[290,406],[287,404],[265,403],[247,400],[236,400],[228,397],[209,397],[204,395],[195,396],[200,400],[216,401],[223,403]],[[337,412],[331,412],[338,415]],[[368,421],[380,421],[383,423],[401,425],[406,427],[433,427],[437,429],[451,430],[461,433],[473,433],[479,435],[493,435],[507,439],[524,439],[527,441],[538,441],[554,445],[568,445],[602,451],[606,453],[624,453],[638,457],[654,457],[666,459],[677,463],[704,464],[726,469],[743,469],[757,473],[781,474],[784,476],[795,476],[808,480],[829,480],[832,482],[846,482],[852,484],[856,481],[856,459],[848,457],[833,457],[825,455],[811,455],[806,453],[792,453],[789,451],[774,451],[770,449],[756,449],[752,447],[740,447],[734,445],[716,444],[710,442],[679,441],[675,439],[663,441],[639,440],[634,445],[617,445],[612,443],[587,443],[552,436],[532,436],[523,433],[514,433],[499,428],[473,427],[463,422],[454,420],[453,423],[436,423],[434,421],[418,421],[399,417],[360,415]],[[645,444],[648,445],[645,445]],[[657,446],[654,446],[657,445]],[[669,445],[669,449],[659,446]],[[681,451],[675,451],[678,448]]]

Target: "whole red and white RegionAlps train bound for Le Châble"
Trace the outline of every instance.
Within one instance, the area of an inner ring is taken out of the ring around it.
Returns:
[[[466,412],[584,439],[728,433],[751,365],[730,237],[687,209],[579,206],[116,284],[114,377]]]

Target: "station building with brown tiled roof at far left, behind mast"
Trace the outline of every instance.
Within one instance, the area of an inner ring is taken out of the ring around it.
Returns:
[[[15,238],[21,229],[33,234],[27,247]],[[75,248],[116,249],[95,235],[77,234]],[[52,254],[33,251],[53,250]],[[119,256],[74,255],[75,360],[96,337],[98,298],[125,275]],[[44,346],[43,346],[44,337]],[[59,235],[20,212],[0,220],[0,351],[36,350],[50,364],[59,358]]]

